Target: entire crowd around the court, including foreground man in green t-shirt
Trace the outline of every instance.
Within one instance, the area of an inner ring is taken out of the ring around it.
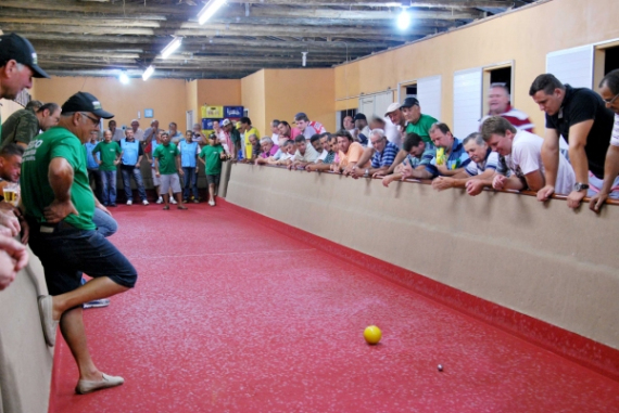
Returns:
[[[0,42],[0,98],[14,99],[31,87],[33,77],[49,77],[26,39],[11,34]],[[619,70],[604,77],[598,93],[544,74],[529,94],[546,114],[543,138],[525,113],[511,107],[509,90],[500,83],[490,88],[490,112],[479,129],[464,139],[424,114],[416,98],[369,120],[361,113],[348,116],[334,133],[298,113],[294,126],[274,120],[264,137],[249,117],[236,125],[214,121],[209,137],[200,125],[184,134],[175,122],[163,130],[153,120],[142,131],[137,119],[126,130],[110,120],[100,137],[101,120],[114,115],[92,94],[78,92],[62,106],[33,101],[0,126],[0,289],[27,264],[29,243],[49,289],[38,298],[43,336],[53,346],[60,324],[78,365],[76,391],[86,393],[124,383],[94,365],[81,311],[85,304],[105,305],[137,282],[135,268],[106,240],[117,229],[108,207],[116,206],[118,168],[127,205],[134,203],[131,179],[141,204],[149,205],[140,168],[144,158],[155,202],[166,210],[170,204],[187,209],[184,204],[200,202],[201,166],[209,204],[215,206],[222,168],[235,162],[380,178],[386,186],[432,180],[438,191],[462,188],[473,196],[484,188],[535,191],[540,201],[556,193],[567,196],[570,208],[589,195],[596,212],[606,199],[619,198]],[[17,182],[18,205],[11,192]],[[84,272],[92,280],[85,282]]]

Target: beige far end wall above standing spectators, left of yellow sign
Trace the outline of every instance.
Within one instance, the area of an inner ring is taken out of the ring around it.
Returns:
[[[96,95],[103,108],[115,115],[119,127],[129,127],[139,111],[140,128],[148,128],[151,119],[144,119],[144,108],[152,108],[161,128],[176,121],[179,130],[184,130],[188,103],[185,83],[185,80],[177,79],[131,79],[129,85],[122,85],[118,79],[111,77],[52,77],[35,79],[34,98],[62,105],[74,93],[85,91]],[[106,128],[108,122],[104,126]]]

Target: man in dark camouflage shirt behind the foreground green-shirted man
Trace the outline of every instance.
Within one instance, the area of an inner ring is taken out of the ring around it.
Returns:
[[[30,109],[26,106],[16,111],[4,120],[0,147],[16,143],[25,149],[33,138],[39,134],[39,130],[45,132],[52,126],[56,126],[59,120],[60,106],[55,103],[47,103],[38,109]]]

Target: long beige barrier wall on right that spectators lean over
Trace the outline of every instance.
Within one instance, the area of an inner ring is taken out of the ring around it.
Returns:
[[[233,165],[228,202],[619,349],[619,207]]]

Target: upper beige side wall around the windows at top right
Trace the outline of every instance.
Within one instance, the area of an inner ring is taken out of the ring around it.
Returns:
[[[546,54],[619,38],[618,15],[617,0],[553,0],[336,67],[336,109],[356,107],[362,92],[396,90],[401,81],[442,75],[441,118],[451,125],[454,72],[515,61],[514,105],[541,131],[543,114],[529,87],[545,72]]]

